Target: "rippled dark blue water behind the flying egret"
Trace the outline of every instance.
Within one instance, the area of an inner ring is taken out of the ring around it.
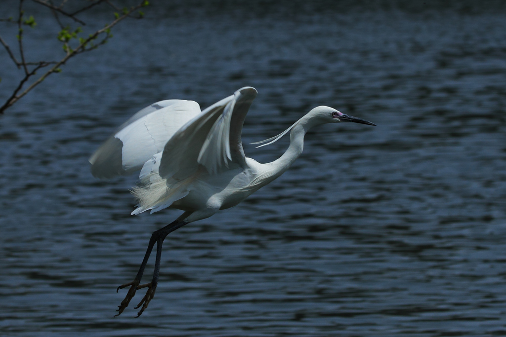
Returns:
[[[146,12],[0,117],[2,336],[506,334],[500,3],[193,2]],[[34,30],[30,55],[49,58],[54,39]],[[4,98],[17,73],[0,58]],[[179,212],[130,216],[136,177],[95,180],[88,157],[153,102],[204,108],[245,85],[259,94],[243,142],[260,162],[288,138],[246,143],[318,105],[378,126],[312,130],[282,177],[171,233],[149,308],[134,319],[141,293],[113,318],[125,295],[116,286]]]

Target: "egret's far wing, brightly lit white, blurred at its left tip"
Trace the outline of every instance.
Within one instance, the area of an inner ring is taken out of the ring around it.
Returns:
[[[123,123],[90,157],[92,174],[112,178],[140,170],[183,125],[201,113],[198,103],[156,102]]]

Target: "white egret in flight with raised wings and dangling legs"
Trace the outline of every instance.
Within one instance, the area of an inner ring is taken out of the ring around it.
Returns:
[[[133,190],[139,204],[132,214],[167,207],[184,211],[151,235],[137,276],[116,290],[130,286],[117,315],[143,287],[148,290],[136,307],[142,305],[137,317],[153,299],[162,243],[168,233],[239,204],[279,177],[301,155],[304,135],[310,128],[339,122],[375,125],[329,107],[316,107],[279,135],[258,142],[269,145],[291,130],[286,152],[271,163],[261,164],[244,156],[241,143],[242,124],[256,95],[255,88],[243,87],[204,111],[193,101],[154,103],[121,125],[91,156],[91,171],[98,178],[141,171],[140,182]],[[153,278],[140,285],[155,243]]]

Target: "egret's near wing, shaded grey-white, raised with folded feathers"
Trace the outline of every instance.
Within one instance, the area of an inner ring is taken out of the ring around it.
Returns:
[[[209,174],[245,167],[242,124],[256,95],[255,88],[243,87],[181,127],[165,144],[160,176],[178,181],[200,166]]]

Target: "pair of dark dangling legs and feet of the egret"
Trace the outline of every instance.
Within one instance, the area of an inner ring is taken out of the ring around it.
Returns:
[[[170,224],[166,225],[165,227],[155,230],[149,239],[148,249],[146,250],[146,254],[144,255],[144,259],[142,260],[141,267],[139,268],[139,272],[135,276],[134,280],[128,283],[121,284],[117,287],[116,292],[118,292],[120,289],[125,288],[127,286],[130,286],[130,289],[128,293],[126,294],[123,301],[121,301],[120,305],[118,305],[118,313],[115,316],[119,316],[123,310],[125,310],[126,307],[130,304],[130,301],[135,296],[135,293],[138,289],[148,287],[148,291],[146,293],[146,296],[144,296],[144,299],[139,303],[139,305],[136,307],[141,306],[141,304],[144,302],[144,306],[141,309],[141,311],[138,313],[139,317],[144,309],[148,306],[149,301],[154,296],[154,291],[156,289],[156,284],[158,282],[158,275],[160,272],[160,260],[161,260],[161,244],[163,243],[163,240],[168,235],[168,233],[184,226],[187,224],[187,221],[184,221],[183,219],[188,215],[189,212],[185,212],[183,215],[181,215],[177,220],[171,222]],[[141,282],[142,275],[144,273],[144,268],[146,267],[146,264],[149,259],[149,255],[151,254],[151,251],[153,250],[154,244],[156,243],[156,260],[155,260],[155,270],[153,273],[153,279],[151,282],[139,285]],[[154,287],[153,287],[154,284]]]

